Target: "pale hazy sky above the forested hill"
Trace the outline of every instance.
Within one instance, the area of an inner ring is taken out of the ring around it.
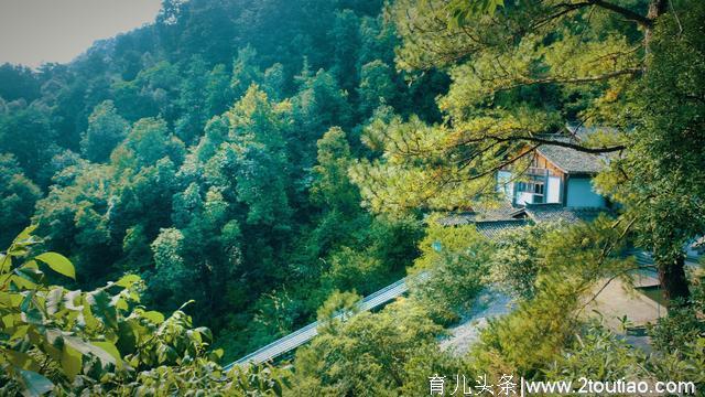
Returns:
[[[0,64],[66,63],[94,41],[152,22],[160,0],[0,0]]]

